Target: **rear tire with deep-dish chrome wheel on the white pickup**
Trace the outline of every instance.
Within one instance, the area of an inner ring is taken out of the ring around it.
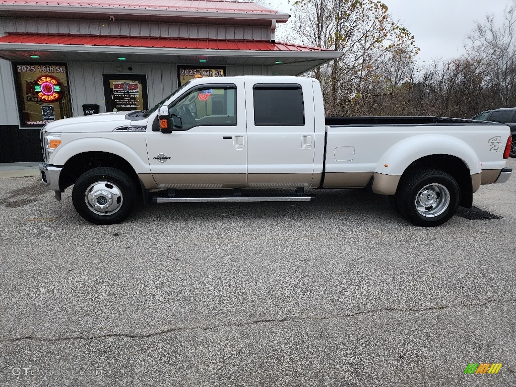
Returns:
[[[433,227],[455,215],[460,203],[460,188],[451,175],[427,168],[408,173],[396,190],[402,216],[415,225]]]

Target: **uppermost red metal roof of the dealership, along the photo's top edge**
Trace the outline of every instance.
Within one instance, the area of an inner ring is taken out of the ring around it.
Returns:
[[[169,11],[201,11],[220,13],[256,13],[275,15],[279,12],[255,3],[224,0],[1,0],[0,5],[59,6],[88,8],[155,9]]]

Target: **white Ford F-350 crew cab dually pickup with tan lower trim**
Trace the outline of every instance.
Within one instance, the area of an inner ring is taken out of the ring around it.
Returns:
[[[433,226],[512,172],[508,126],[326,118],[319,83],[303,77],[192,79],[148,111],[51,122],[41,140],[43,183],[58,200],[74,184],[77,212],[97,224],[122,221],[139,193],[145,203],[310,201],[304,188],[365,187],[389,195],[414,224]],[[263,188],[293,191],[264,196]]]

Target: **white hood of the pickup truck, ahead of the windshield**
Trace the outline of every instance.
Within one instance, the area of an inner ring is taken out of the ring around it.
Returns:
[[[129,111],[94,114],[65,118],[46,124],[45,130],[51,133],[83,133],[83,132],[112,132],[120,126],[130,126],[131,120],[125,116]],[[147,120],[138,121],[138,125],[146,125]]]

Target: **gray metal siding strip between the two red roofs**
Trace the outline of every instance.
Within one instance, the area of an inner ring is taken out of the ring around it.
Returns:
[[[0,32],[270,40],[271,27],[75,19],[0,18]]]

